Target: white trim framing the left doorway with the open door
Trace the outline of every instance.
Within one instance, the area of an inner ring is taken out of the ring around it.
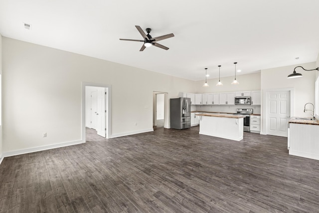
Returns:
[[[112,87],[109,84],[100,84],[100,83],[90,83],[90,82],[82,82],[82,141],[85,143],[86,135],[85,135],[85,87],[86,86],[95,86],[95,87],[104,87],[108,89],[108,106],[107,106],[107,113],[108,113],[108,122],[106,124],[106,138],[111,138],[111,95],[112,95]]]

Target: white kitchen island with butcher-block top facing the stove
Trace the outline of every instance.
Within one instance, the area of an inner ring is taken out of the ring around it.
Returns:
[[[198,113],[199,134],[234,141],[243,139],[244,116]]]

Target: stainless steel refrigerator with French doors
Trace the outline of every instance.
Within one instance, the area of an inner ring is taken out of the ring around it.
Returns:
[[[190,128],[190,98],[171,98],[169,106],[170,128]]]

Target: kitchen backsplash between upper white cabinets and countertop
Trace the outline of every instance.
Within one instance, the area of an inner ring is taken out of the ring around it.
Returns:
[[[194,108],[195,107],[195,108]],[[192,105],[192,111],[205,111],[205,112],[233,112],[236,113],[236,109],[238,108],[248,108],[253,109],[253,113],[260,114],[260,106],[253,106],[253,105]]]

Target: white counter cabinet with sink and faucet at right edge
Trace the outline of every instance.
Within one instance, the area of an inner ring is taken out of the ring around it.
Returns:
[[[288,129],[289,155],[319,160],[319,121],[293,117]]]

